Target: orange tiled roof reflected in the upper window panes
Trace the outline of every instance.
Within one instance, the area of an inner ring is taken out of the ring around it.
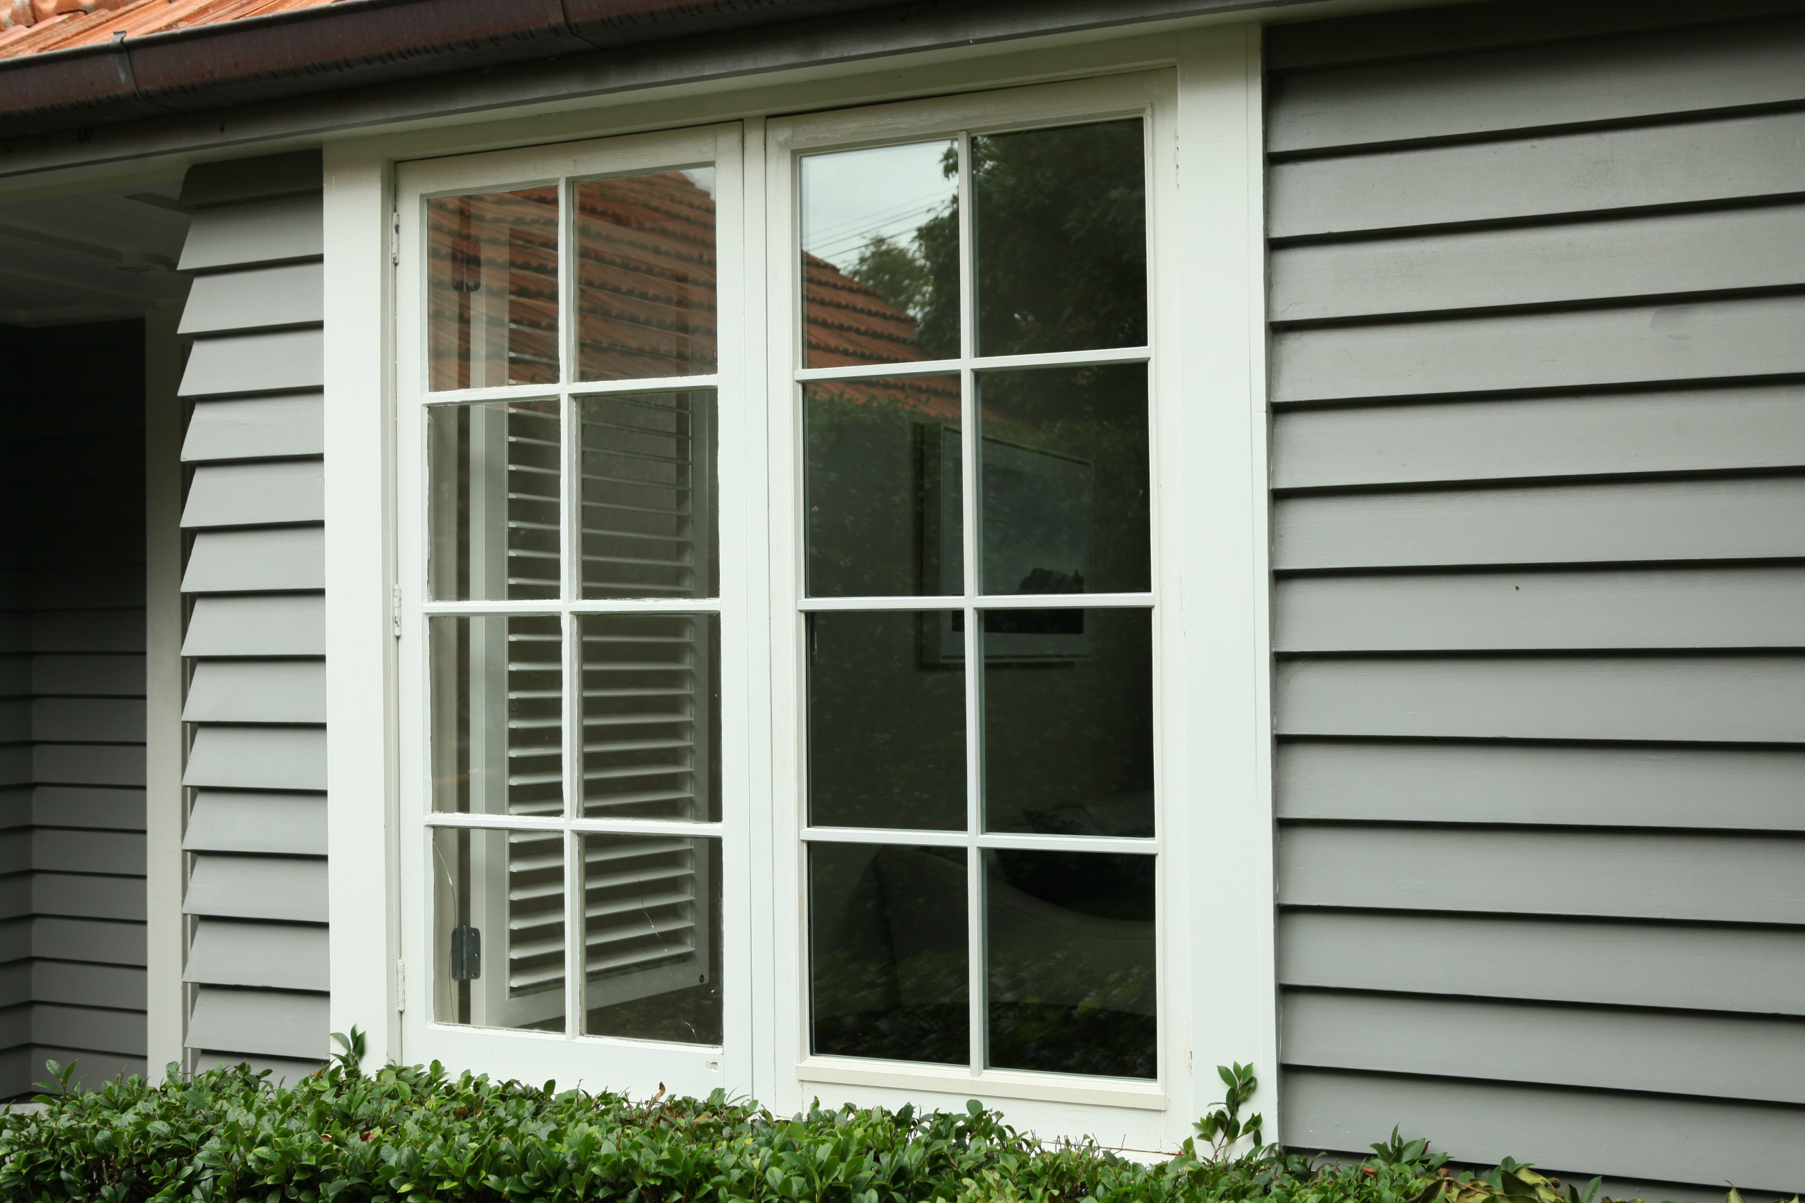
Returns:
[[[572,191],[578,379],[713,373],[715,198],[682,171],[585,180]],[[435,198],[426,224],[431,386],[556,381],[558,189]],[[875,289],[812,254],[803,272],[809,366],[924,359],[915,319]],[[489,299],[496,290],[505,301]],[[949,420],[960,411],[957,375],[810,388]]]

